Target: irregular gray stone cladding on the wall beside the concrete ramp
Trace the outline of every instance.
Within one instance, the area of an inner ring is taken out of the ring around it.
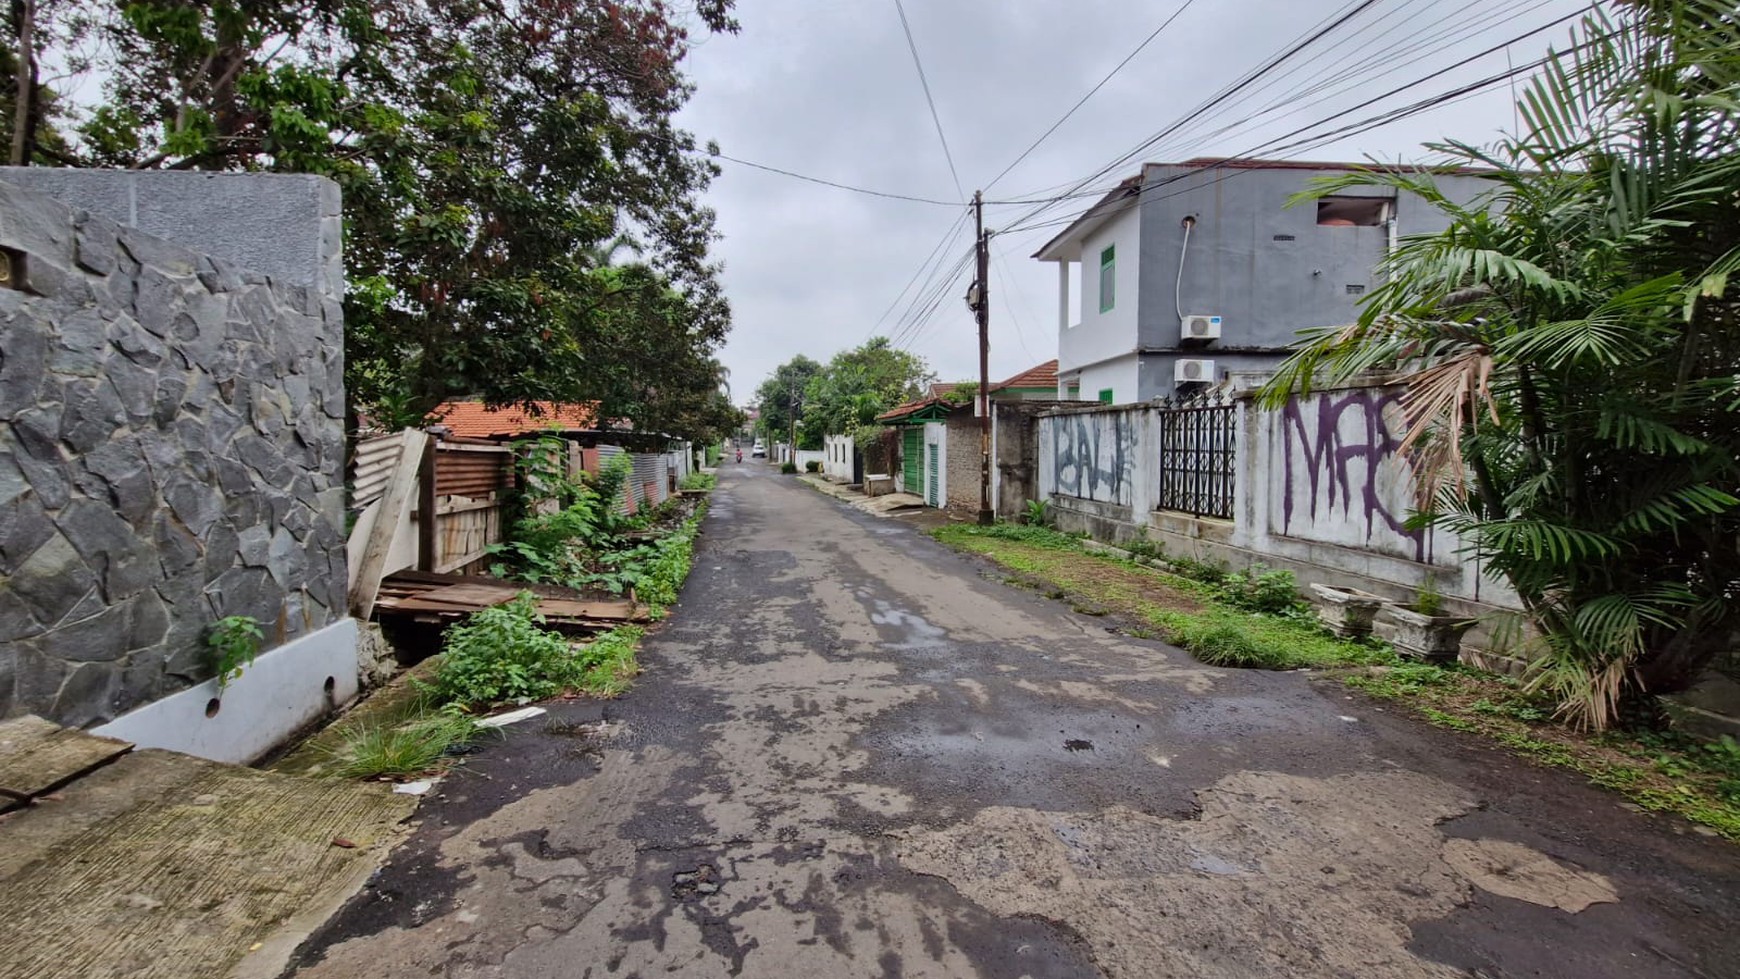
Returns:
[[[221,616],[258,619],[264,649],[343,617],[327,283],[9,183],[0,247],[24,266],[0,289],[0,718],[87,727],[193,685]]]

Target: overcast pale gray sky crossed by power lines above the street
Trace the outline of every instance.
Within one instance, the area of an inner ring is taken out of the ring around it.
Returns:
[[[903,0],[960,190],[987,200],[1058,193],[1159,134],[1223,87],[1361,0]],[[1068,122],[1000,181],[992,179],[1162,21],[1183,12]],[[1305,160],[1420,160],[1423,141],[1486,143],[1512,129],[1510,89],[1448,103],[1321,146],[1303,139],[1538,59],[1564,45],[1587,0],[1375,0],[1354,19],[1159,141],[1141,160],[1258,155]],[[894,0],[738,0],[743,33],[710,37],[691,56],[698,85],[680,123],[755,163],[887,193],[962,200],[926,106]],[[1516,40],[1521,38],[1521,40]],[[1510,42],[1510,43],[1507,43]],[[1495,45],[1493,54],[1455,63]],[[1436,77],[1434,77],[1436,75]],[[1392,89],[1406,90],[1364,103]],[[1338,115],[1345,113],[1345,115]],[[708,193],[719,210],[734,329],[724,350],[738,402],[797,353],[826,360],[887,334],[943,379],[978,374],[973,316],[948,280],[920,318],[901,289],[924,268],[962,209],[886,200],[724,162]],[[1046,193],[1041,193],[1046,191]],[[1034,221],[1068,217],[1065,202]],[[987,207],[1009,228],[1030,207]],[[1058,228],[994,240],[990,374],[1056,356],[1056,266],[1030,256]],[[943,266],[969,247],[950,235]],[[929,271],[929,270],[926,270]],[[886,318],[884,318],[884,313]],[[879,322],[880,318],[880,322]]]

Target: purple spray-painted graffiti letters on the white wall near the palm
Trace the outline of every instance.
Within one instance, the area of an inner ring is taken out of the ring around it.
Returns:
[[[1373,393],[1350,391],[1342,396],[1319,395],[1314,398],[1317,417],[1314,424],[1305,423],[1305,407],[1300,398],[1288,402],[1281,412],[1282,459],[1286,463],[1286,487],[1281,504],[1281,532],[1293,525],[1293,499],[1298,473],[1293,463],[1293,440],[1298,436],[1300,454],[1305,459],[1303,478],[1310,489],[1310,513],[1324,504],[1335,509],[1340,504],[1343,515],[1352,511],[1357,497],[1361,513],[1366,518],[1366,539],[1382,520],[1385,527],[1402,539],[1413,541],[1415,560],[1430,560],[1430,537],[1425,530],[1409,530],[1402,518],[1390,513],[1378,494],[1378,466],[1395,456],[1401,440],[1394,436],[1383,421],[1383,409],[1401,400],[1401,391]],[[1364,442],[1348,442],[1342,436],[1342,417],[1348,410],[1361,412],[1364,421]],[[1364,478],[1359,485],[1348,475],[1348,463],[1364,463]]]

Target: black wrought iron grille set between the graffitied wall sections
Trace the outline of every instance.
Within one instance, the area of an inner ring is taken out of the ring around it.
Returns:
[[[1232,520],[1234,410],[1225,398],[1161,402],[1161,509]]]

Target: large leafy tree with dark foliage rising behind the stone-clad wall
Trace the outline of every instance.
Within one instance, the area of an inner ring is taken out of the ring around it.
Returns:
[[[729,323],[698,200],[715,169],[672,123],[689,33],[665,0],[82,10],[61,33],[101,42],[77,64],[103,99],[66,120],[68,153],[35,160],[334,177],[348,384],[385,421],[456,395],[632,417],[706,374]],[[729,12],[693,7],[713,31],[736,30]],[[612,264],[625,235],[633,271]],[[642,348],[658,358],[625,383],[625,351]]]

